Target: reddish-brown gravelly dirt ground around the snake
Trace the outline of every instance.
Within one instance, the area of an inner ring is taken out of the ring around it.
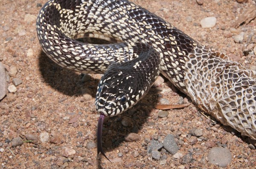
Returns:
[[[191,103],[163,78],[132,110],[105,121],[103,146],[112,163],[102,155],[97,160],[99,114],[94,102],[100,75],[82,78],[79,73],[60,68],[42,52],[35,22],[45,2],[0,1],[0,61],[8,70],[1,76],[7,76],[8,86],[13,85],[14,78],[23,81],[15,93],[8,92],[0,101],[1,168],[219,168],[207,158],[214,146],[231,152],[227,168],[256,166],[255,146],[247,137],[212,122],[193,104],[168,110],[169,114],[160,118],[156,104]],[[199,6],[195,1],[136,1],[202,44],[256,70],[256,20],[236,29],[230,27],[244,11],[255,7],[255,1],[203,2]],[[204,17],[217,18],[214,28],[201,28]],[[233,36],[241,32],[244,39],[235,43]],[[191,135],[193,128],[200,129],[203,135]],[[127,142],[125,136],[130,132],[137,132],[139,138]],[[160,159],[152,159],[147,153],[148,143],[152,139],[162,142],[168,134],[175,136],[181,156],[174,158],[162,148]],[[186,159],[188,155],[192,156],[190,160]]]

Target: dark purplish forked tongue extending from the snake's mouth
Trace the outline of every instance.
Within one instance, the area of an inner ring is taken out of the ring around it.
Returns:
[[[98,131],[97,131],[97,155],[98,155],[98,158],[99,158],[99,153],[100,152],[102,153],[102,155],[105,158],[107,158],[107,156],[105,155],[105,153],[104,153],[104,151],[102,149],[102,127],[103,127],[104,118],[105,118],[105,115],[101,114],[99,116],[99,121],[98,121]],[[110,160],[108,159],[108,161],[110,161]]]

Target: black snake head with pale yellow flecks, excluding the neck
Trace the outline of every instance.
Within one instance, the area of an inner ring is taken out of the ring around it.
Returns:
[[[122,70],[107,71],[98,85],[96,110],[111,117],[123,113],[137,103],[136,88],[135,78],[128,73]]]

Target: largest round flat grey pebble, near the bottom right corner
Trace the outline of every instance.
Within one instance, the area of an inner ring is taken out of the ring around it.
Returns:
[[[210,149],[207,158],[209,163],[218,164],[220,167],[226,167],[231,163],[231,153],[228,149],[222,147],[213,147]]]

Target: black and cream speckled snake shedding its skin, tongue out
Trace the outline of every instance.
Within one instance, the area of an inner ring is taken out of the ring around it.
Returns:
[[[161,73],[197,107],[256,140],[256,71],[212,51],[128,0],[49,0],[36,30],[42,50],[62,68],[104,73],[96,92],[102,125],[146,95]],[[81,42],[94,37],[107,44]],[[107,158],[107,157],[106,157]]]

